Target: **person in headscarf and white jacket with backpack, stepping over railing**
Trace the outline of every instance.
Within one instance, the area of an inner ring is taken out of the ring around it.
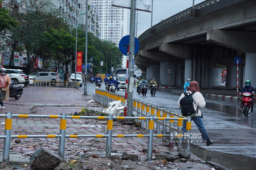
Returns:
[[[192,81],[189,85],[189,87],[187,88],[187,95],[190,95],[192,92],[195,92],[193,94],[193,100],[194,100],[194,109],[196,111],[196,113],[193,115],[193,117],[191,117],[191,120],[193,120],[195,122],[195,124],[197,125],[199,131],[202,134],[202,138],[205,141],[206,140],[206,146],[210,146],[213,145],[213,142],[210,141],[210,138],[207,134],[207,131],[205,129],[205,127],[203,126],[203,122],[202,119],[202,112],[200,109],[205,107],[205,99],[203,98],[203,95],[200,93],[199,90],[199,86],[198,83],[196,81]],[[178,107],[181,108],[180,105],[180,100],[185,96],[184,93],[181,94],[181,96],[179,97],[179,101],[178,101]],[[182,131],[186,133],[186,121],[183,120],[183,127],[182,127]]]

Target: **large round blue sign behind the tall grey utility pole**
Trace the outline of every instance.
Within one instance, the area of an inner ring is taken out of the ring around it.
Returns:
[[[134,37],[135,38],[135,42],[134,42],[134,54],[136,54],[138,51],[139,51],[139,40],[136,38],[136,37]],[[119,50],[120,50],[120,52],[123,54],[123,55],[125,55],[125,56],[127,56],[127,54],[128,54],[128,45],[129,45],[129,43],[130,43],[130,35],[126,35],[126,36],[124,36],[121,40],[120,40],[120,42],[119,42]]]

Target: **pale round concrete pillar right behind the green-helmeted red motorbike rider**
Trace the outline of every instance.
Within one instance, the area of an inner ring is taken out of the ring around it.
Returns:
[[[251,80],[251,86],[256,88],[256,53],[246,53],[245,59],[245,81]],[[245,82],[243,82],[243,86]]]

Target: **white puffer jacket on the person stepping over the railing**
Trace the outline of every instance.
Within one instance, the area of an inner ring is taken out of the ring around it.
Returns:
[[[191,91],[188,91],[190,94],[192,93]],[[181,96],[179,97],[179,101],[184,97],[184,93],[181,94]],[[202,112],[200,109],[204,108],[205,107],[205,99],[203,98],[203,95],[200,93],[200,92],[195,92],[193,95],[192,95],[192,98],[194,100],[194,109],[196,110],[197,107],[199,108],[198,109],[198,113],[195,114],[195,116],[202,116]],[[181,105],[178,101],[178,107],[181,108]],[[193,116],[193,117],[195,117]]]

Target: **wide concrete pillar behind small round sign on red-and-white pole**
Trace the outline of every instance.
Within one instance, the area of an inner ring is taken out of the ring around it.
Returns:
[[[169,83],[169,73],[168,69],[170,69],[170,86],[175,85],[175,63],[170,62],[161,62],[160,63],[160,75],[161,79],[159,81],[160,86],[168,86]]]

